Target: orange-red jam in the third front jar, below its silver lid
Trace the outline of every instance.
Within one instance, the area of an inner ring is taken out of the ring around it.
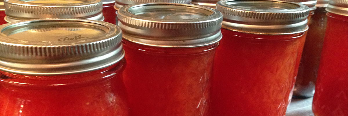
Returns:
[[[285,115],[304,32],[260,36],[221,29],[221,33],[214,61],[212,114]]]

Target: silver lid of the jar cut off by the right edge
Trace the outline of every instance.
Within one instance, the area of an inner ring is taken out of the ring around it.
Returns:
[[[326,11],[333,14],[348,16],[348,0],[330,0]]]

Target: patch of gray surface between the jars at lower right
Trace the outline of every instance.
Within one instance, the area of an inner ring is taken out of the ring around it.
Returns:
[[[293,98],[286,110],[286,116],[314,116],[312,113],[313,98]]]

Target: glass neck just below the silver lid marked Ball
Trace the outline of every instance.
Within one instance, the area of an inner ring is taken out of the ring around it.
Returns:
[[[4,86],[25,87],[35,89],[50,89],[56,87],[76,87],[93,85],[120,74],[124,70],[125,60],[122,59],[109,67],[72,75],[31,76],[18,75],[0,71],[0,84]]]

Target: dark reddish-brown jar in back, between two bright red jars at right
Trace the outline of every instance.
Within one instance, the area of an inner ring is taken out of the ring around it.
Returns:
[[[314,15],[308,18],[308,33],[304,42],[301,62],[299,63],[294,97],[313,97],[315,82],[318,75],[320,54],[323,48],[326,30],[326,10],[328,0],[318,0]]]

